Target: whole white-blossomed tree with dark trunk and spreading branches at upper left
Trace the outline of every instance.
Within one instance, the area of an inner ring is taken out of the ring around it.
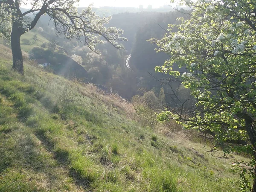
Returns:
[[[13,69],[23,74],[20,36],[33,29],[39,18],[45,14],[53,20],[57,34],[64,34],[68,39],[76,38],[84,41],[84,44],[95,52],[99,52],[95,49],[96,43],[103,42],[98,38],[99,36],[105,38],[114,47],[121,48],[116,41],[126,41],[120,36],[123,31],[104,26],[111,17],[100,18],[92,12],[91,6],[78,13],[75,7],[78,2],[79,0],[0,0],[0,19],[10,18],[12,26]],[[22,13],[20,6],[23,5],[31,5],[31,9]],[[28,15],[32,13],[35,17],[31,20]],[[3,34],[6,31],[1,27],[0,30]]]

